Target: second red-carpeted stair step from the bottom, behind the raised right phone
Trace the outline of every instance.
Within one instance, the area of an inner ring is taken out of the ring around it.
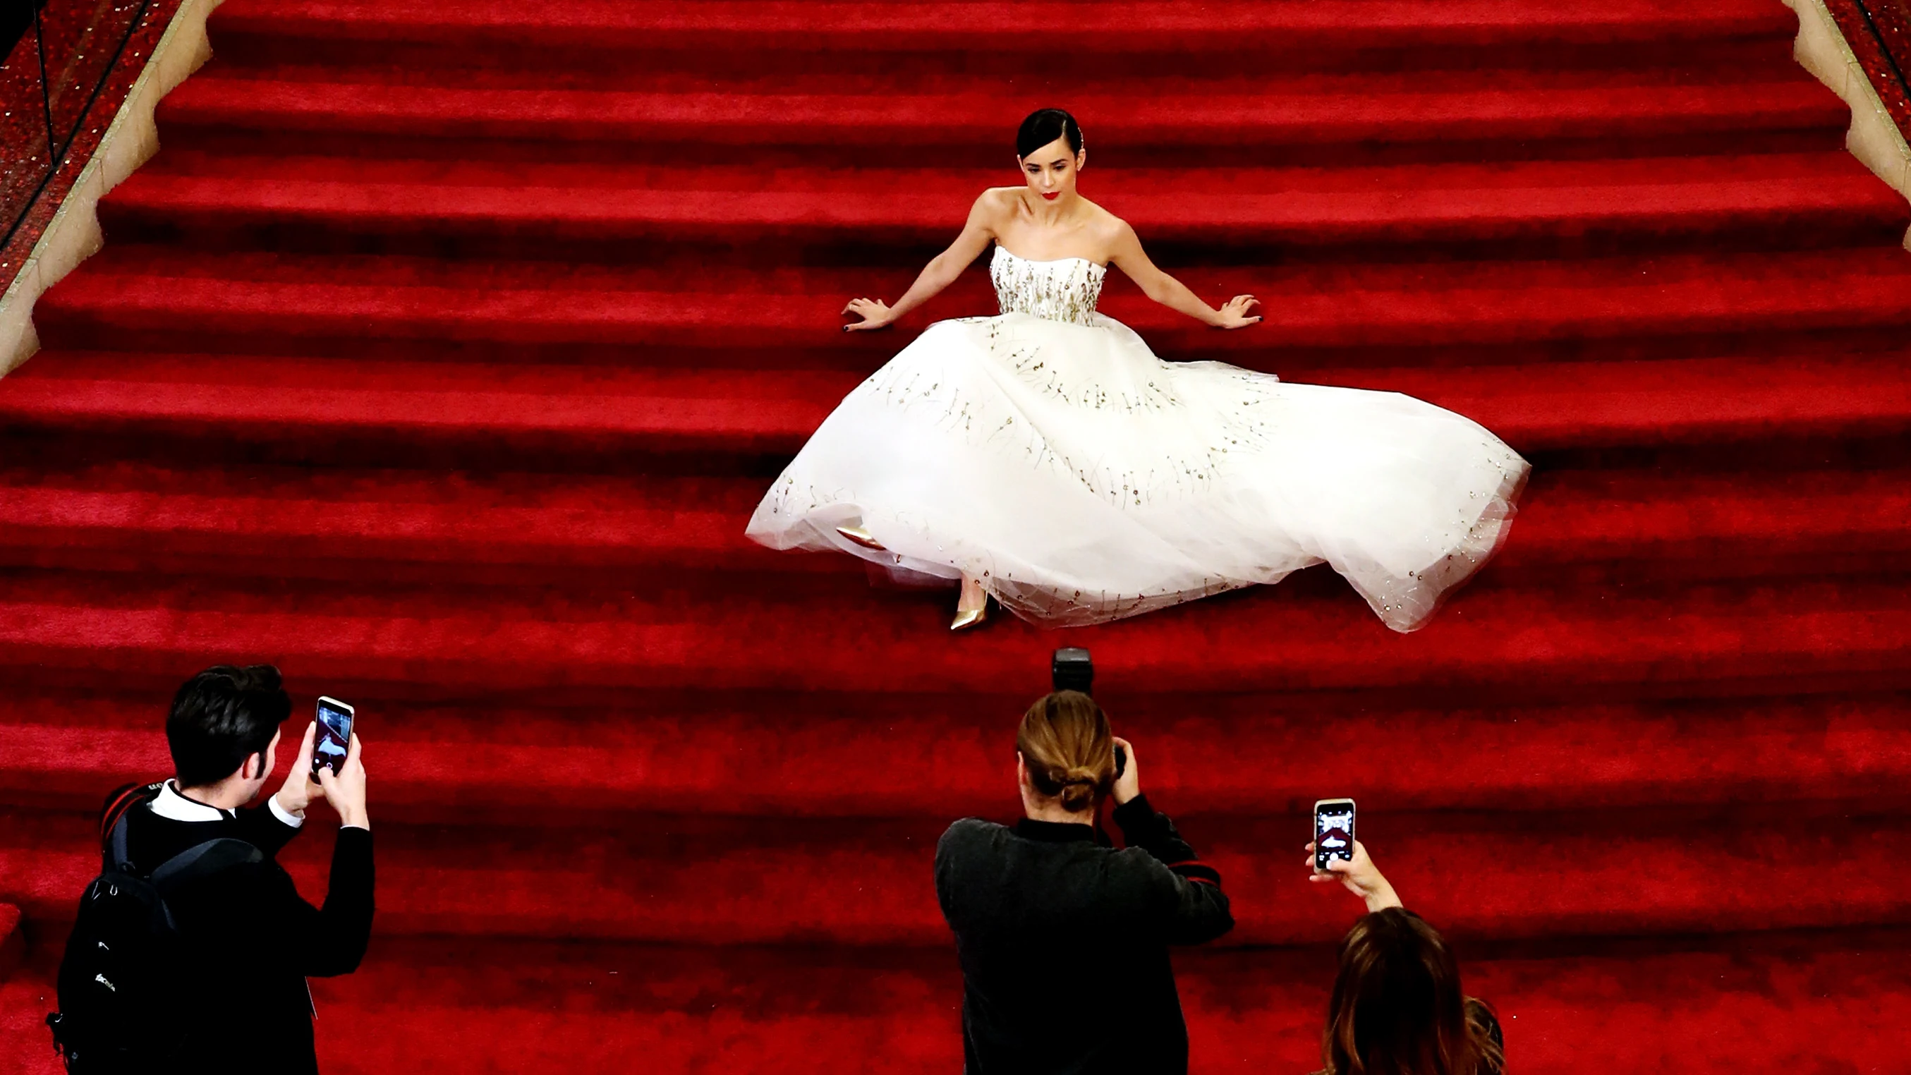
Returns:
[[[1170,800],[1160,806],[1175,810]],[[994,813],[1019,815],[1013,802]],[[386,936],[948,945],[933,882],[944,819],[654,817],[615,833],[575,819],[376,825]],[[1353,911],[1345,894],[1307,880],[1307,813],[1183,813],[1177,825],[1221,871],[1235,901],[1236,926],[1223,945],[1321,943],[1345,928]],[[1827,861],[1911,854],[1911,821],[1901,813],[1787,806],[1668,819],[1659,808],[1590,815],[1500,808],[1366,812],[1361,827],[1414,909],[1466,939],[1865,928],[1901,924],[1911,913],[1911,896],[1888,873],[1815,882]],[[304,892],[323,892],[331,861],[323,829],[279,855]],[[96,840],[84,815],[0,810],[0,876],[19,878],[6,897],[32,918],[69,920],[76,894],[99,873]]]

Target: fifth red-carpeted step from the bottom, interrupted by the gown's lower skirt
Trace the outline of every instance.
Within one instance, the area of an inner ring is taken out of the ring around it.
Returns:
[[[157,454],[157,453],[155,453]],[[101,466],[0,472],[0,563],[155,573],[531,580],[598,571],[826,573],[743,537],[762,477],[329,474]],[[1705,577],[1879,571],[1911,554],[1905,470],[1542,472],[1496,575],[1661,563]]]

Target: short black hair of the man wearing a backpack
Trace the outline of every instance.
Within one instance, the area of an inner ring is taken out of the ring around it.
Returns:
[[[166,745],[180,787],[218,783],[250,754],[264,754],[279,726],[292,716],[292,699],[271,664],[214,664],[172,695]]]

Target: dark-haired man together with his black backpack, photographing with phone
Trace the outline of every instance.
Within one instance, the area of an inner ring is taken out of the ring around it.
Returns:
[[[285,785],[247,808],[290,712],[277,668],[206,668],[166,718],[174,779],[107,800],[105,869],[80,897],[48,1018],[69,1071],[317,1071],[306,976],[350,974],[365,955],[371,823],[357,735],[313,779],[317,726]],[[313,907],[275,855],[321,798],[342,827]]]

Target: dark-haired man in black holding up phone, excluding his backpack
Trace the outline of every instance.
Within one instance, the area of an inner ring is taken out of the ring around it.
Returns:
[[[277,762],[290,699],[269,664],[208,668],[180,687],[166,718],[174,779],[126,812],[126,850],[147,869],[206,840],[231,836],[264,852],[170,894],[183,962],[168,976],[185,993],[182,1050],[172,1069],[317,1071],[306,976],[350,974],[373,918],[371,821],[357,735],[336,773],[311,773],[317,726],[292,773],[264,806],[247,808]],[[275,854],[300,833],[306,806],[338,812],[331,890],[306,903]]]

